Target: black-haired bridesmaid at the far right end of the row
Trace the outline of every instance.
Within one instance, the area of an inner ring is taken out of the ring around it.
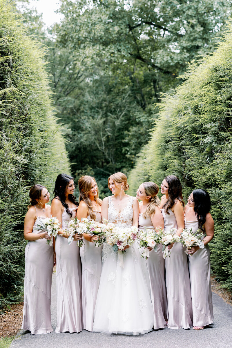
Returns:
[[[214,320],[210,284],[210,250],[208,243],[214,237],[214,220],[209,213],[211,207],[208,192],[194,190],[184,208],[185,228],[193,233],[205,234],[202,239],[205,247],[193,246],[188,250],[189,274],[193,303],[193,329],[202,330]]]

